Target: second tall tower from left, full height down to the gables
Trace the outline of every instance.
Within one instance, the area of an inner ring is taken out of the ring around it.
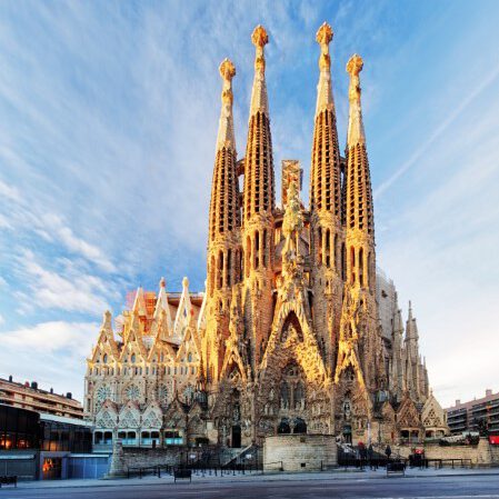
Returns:
[[[268,43],[269,38],[262,26],[255,28],[251,40],[256,47],[256,57],[244,158],[242,211],[244,289],[242,306],[246,335],[251,340],[255,368],[261,359],[272,322],[276,193],[263,54],[263,47]]]

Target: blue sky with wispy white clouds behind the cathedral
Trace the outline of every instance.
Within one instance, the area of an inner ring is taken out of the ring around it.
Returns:
[[[293,158],[308,186],[325,20],[341,147],[345,66],[365,60],[378,263],[412,299],[435,391],[499,390],[495,1],[1,2],[0,376],[81,397],[106,308],[161,276],[202,289],[218,66],[237,67],[242,156],[257,23],[277,181]]]

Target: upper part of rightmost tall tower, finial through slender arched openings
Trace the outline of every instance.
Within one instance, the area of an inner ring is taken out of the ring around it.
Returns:
[[[361,288],[376,289],[372,190],[360,103],[359,73],[363,61],[357,53],[347,63],[350,74],[350,112],[347,138],[346,232],[348,277]]]

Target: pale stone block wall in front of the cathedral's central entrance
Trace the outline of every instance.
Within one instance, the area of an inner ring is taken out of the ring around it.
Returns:
[[[277,435],[266,437],[263,470],[317,471],[336,466],[338,452],[333,435]]]

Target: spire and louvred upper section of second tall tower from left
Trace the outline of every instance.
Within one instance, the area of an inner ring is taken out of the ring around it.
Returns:
[[[251,41],[256,47],[256,57],[244,160],[243,223],[247,223],[253,214],[270,213],[275,208],[272,140],[263,54],[263,47],[268,43],[269,37],[262,26],[255,28]]]

